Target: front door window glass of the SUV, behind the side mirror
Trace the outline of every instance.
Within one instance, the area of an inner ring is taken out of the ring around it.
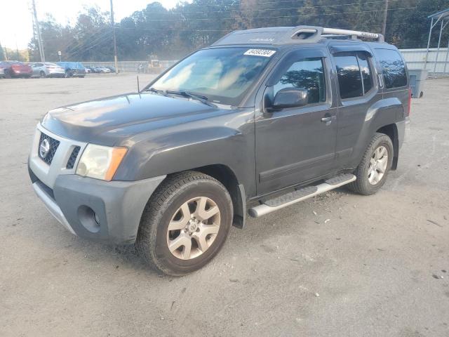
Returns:
[[[308,104],[326,101],[326,81],[323,60],[306,58],[288,68],[278,83],[274,84],[274,95],[283,88],[304,88],[309,93]]]

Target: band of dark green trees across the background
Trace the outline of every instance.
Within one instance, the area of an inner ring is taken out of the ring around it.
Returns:
[[[321,25],[381,32],[384,5],[384,0],[192,0],[168,10],[153,2],[116,23],[117,51],[120,60],[145,60],[149,54],[179,59],[232,30],[256,27]],[[399,48],[426,46],[427,16],[445,8],[449,0],[390,0],[386,40]],[[64,60],[113,58],[109,13],[98,7],[84,8],[72,26],[48,15],[41,29],[48,59],[57,58],[58,51]],[[432,46],[438,32],[434,29]],[[442,41],[448,39],[446,29]],[[39,55],[34,41],[29,54]]]

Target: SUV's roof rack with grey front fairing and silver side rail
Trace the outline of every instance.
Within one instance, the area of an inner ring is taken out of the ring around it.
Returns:
[[[235,30],[216,41],[213,46],[229,44],[302,44],[337,37],[346,37],[347,39],[358,39],[363,37],[384,42],[384,36],[378,33],[316,26],[297,26]]]

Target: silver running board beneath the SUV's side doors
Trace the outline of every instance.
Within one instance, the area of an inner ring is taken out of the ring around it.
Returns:
[[[356,180],[356,176],[351,173],[340,174],[321,183],[316,186],[301,187],[293,192],[283,194],[280,197],[269,199],[262,204],[248,209],[248,213],[253,218],[264,216],[265,214],[272,213],[278,209],[283,209],[286,206],[296,204],[305,199],[315,197],[318,194],[328,192],[342,185],[349,184]]]

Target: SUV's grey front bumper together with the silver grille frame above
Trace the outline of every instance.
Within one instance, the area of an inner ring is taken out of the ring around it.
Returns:
[[[59,142],[51,164],[38,154],[41,133]],[[136,181],[77,176],[76,166],[86,145],[55,135],[38,124],[28,161],[34,191],[46,209],[73,234],[95,241],[133,243],[145,205],[166,176]],[[79,154],[68,168],[74,147],[79,147]]]

